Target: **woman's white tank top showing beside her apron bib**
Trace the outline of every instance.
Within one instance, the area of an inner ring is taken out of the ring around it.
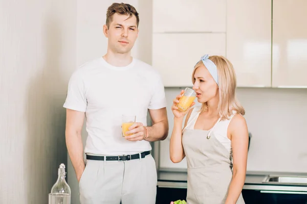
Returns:
[[[198,116],[201,113],[201,106],[195,106],[192,110],[192,113],[188,119],[188,123],[185,127],[185,129],[194,130],[194,126],[196,123],[196,120]],[[221,144],[229,151],[230,154],[232,154],[232,147],[231,147],[231,140],[227,137],[227,129],[228,125],[232,119],[232,117],[236,114],[235,111],[233,111],[232,115],[229,117],[229,119],[218,121],[214,125],[214,129],[212,130],[212,133],[214,134],[215,138],[221,142]],[[211,129],[210,129],[211,130]],[[208,131],[210,131],[208,130]]]

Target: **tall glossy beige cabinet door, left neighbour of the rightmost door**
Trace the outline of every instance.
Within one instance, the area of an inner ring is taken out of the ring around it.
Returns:
[[[227,0],[226,56],[238,87],[271,87],[271,14],[272,1]]]

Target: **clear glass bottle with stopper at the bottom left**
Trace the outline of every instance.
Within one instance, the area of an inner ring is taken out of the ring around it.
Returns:
[[[49,194],[49,204],[70,204],[71,203],[71,189],[65,180],[65,165],[60,164],[58,169],[58,179],[51,188]]]

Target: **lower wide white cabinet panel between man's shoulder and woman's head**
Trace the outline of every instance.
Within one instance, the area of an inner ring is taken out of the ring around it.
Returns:
[[[225,53],[225,33],[152,36],[152,66],[159,70],[165,87],[192,86],[193,67],[201,57]]]

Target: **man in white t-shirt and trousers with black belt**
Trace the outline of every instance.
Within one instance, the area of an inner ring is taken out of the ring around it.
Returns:
[[[63,106],[65,135],[82,204],[156,201],[157,171],[149,142],[167,137],[166,99],[159,73],[130,55],[138,25],[133,6],[112,4],[103,26],[106,55],[83,64],[69,82]],[[146,126],[148,110],[152,126]],[[86,166],[81,140],[84,115]],[[126,132],[130,136],[122,137],[122,115],[136,115]]]

